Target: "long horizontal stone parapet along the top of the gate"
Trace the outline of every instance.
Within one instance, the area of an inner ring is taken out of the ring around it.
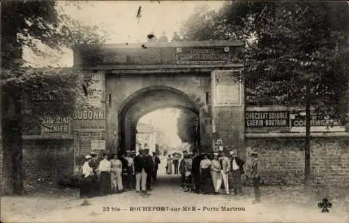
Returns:
[[[207,65],[239,63],[241,41],[181,41],[73,46],[74,66]],[[132,67],[131,67],[132,69]]]

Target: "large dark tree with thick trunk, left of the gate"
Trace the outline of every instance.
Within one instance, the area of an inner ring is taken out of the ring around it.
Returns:
[[[70,114],[84,101],[77,72],[62,69],[31,69],[22,54],[30,48],[43,59],[45,50],[71,45],[98,45],[105,35],[98,27],[85,26],[64,15],[59,1],[1,1],[1,127],[3,157],[6,159],[7,192],[23,194],[22,125],[25,120],[40,122],[41,115]],[[79,4],[79,2],[65,2]],[[66,98],[57,101],[27,100],[29,95]]]

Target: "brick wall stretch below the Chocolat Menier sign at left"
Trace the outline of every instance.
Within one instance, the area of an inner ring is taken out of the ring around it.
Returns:
[[[24,180],[57,179],[72,175],[74,168],[73,141],[33,140],[23,144]]]

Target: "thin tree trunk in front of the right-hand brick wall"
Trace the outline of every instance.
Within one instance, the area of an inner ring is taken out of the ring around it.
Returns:
[[[306,138],[304,145],[304,185],[309,187],[311,184],[310,180],[310,121],[311,121],[311,89],[309,86],[306,86]]]

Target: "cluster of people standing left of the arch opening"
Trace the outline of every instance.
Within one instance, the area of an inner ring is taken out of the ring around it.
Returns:
[[[122,193],[135,189],[136,192],[147,194],[151,190],[151,180],[156,182],[160,159],[149,149],[126,151],[126,154],[103,153],[99,159],[97,154],[86,155],[82,166],[80,182],[80,197],[105,196],[107,194]]]

